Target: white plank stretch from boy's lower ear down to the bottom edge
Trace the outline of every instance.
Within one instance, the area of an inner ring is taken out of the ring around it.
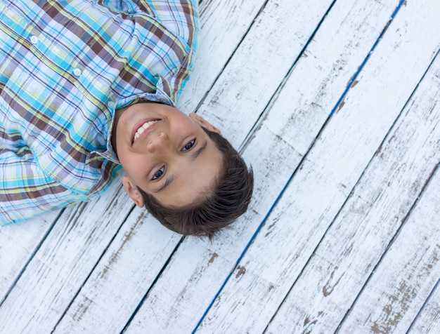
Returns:
[[[136,207],[53,333],[120,333],[180,239]]]

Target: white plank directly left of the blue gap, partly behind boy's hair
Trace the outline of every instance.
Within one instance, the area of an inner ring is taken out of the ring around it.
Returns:
[[[305,153],[315,138],[326,116],[344,91],[350,76],[389,19],[395,4],[390,5],[387,2],[375,2],[375,6],[363,3],[364,11],[370,15],[365,18],[347,15],[352,20],[347,18],[347,26],[344,28],[340,28],[337,22],[345,18],[344,15],[339,16],[339,13],[347,14],[344,8],[351,6],[347,2],[341,2],[340,7],[335,7],[335,11],[330,12],[316,34],[310,50],[306,51],[309,56],[302,58],[297,64],[274,103],[267,118],[271,118],[273,113],[273,118],[295,121],[297,137],[309,138],[309,144],[299,145],[304,148],[304,152],[300,154]],[[357,13],[359,8],[355,6],[352,11]],[[371,12],[368,8],[372,8]],[[292,18],[291,22],[293,21],[295,19]],[[359,34],[353,34],[352,27],[356,27]],[[332,43],[332,48],[328,53],[320,53],[329,42]],[[295,110],[292,106],[295,106]],[[302,115],[300,117],[296,116],[298,110]],[[255,137],[245,149],[245,158],[254,164],[257,180],[250,211],[212,243],[185,240],[162,273],[160,281],[150,291],[127,333],[142,333],[145,328],[152,333],[178,333],[194,328],[214,296],[213,291],[221,286],[229,268],[233,267],[271,201],[283,187],[283,182],[297,167],[301,155],[295,150],[295,141],[290,133],[281,131],[278,135],[268,126],[273,126],[273,121],[261,123]],[[276,245],[276,241],[271,247],[273,245]],[[267,250],[263,250],[265,251]],[[239,268],[236,273],[238,277],[243,276],[240,270]],[[161,315],[160,319],[156,318],[157,314]]]

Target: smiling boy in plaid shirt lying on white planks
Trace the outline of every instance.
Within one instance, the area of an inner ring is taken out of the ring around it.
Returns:
[[[195,1],[35,2],[0,0],[0,225],[89,200],[121,166],[134,203],[181,234],[244,213],[252,171],[174,107]]]

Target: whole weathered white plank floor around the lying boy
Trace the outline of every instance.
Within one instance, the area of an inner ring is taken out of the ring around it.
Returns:
[[[197,110],[253,166],[214,241],[100,199],[0,229],[0,333],[440,333],[440,2],[202,0]]]

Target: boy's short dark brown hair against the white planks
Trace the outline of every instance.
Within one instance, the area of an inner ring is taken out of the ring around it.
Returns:
[[[245,213],[252,197],[254,176],[245,161],[222,135],[203,130],[223,156],[221,174],[216,176],[211,192],[200,194],[197,203],[183,208],[162,206],[141,188],[147,210],[164,227],[183,235],[212,236]]]

